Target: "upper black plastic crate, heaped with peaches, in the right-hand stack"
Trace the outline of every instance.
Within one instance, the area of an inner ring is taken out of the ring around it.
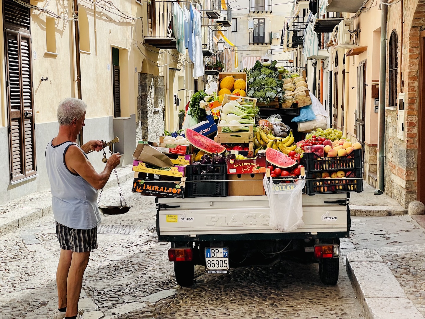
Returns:
[[[351,154],[353,154],[353,157],[349,157]],[[344,157],[317,157],[315,153],[304,153],[304,166],[306,167],[306,172],[340,171],[363,168],[362,150],[354,150],[351,154]]]

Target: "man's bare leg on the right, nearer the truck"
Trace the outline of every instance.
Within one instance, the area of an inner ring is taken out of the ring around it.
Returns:
[[[84,275],[85,268],[87,267],[89,257],[90,251],[86,251],[84,253],[72,253],[71,267],[69,268],[67,282],[66,317],[77,315],[78,300],[82,287],[82,277]]]

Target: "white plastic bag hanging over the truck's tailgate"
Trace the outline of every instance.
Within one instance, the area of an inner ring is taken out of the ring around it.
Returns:
[[[275,185],[264,176],[263,185],[270,206],[270,228],[282,232],[304,226],[302,193],[306,181],[301,177],[295,183]]]

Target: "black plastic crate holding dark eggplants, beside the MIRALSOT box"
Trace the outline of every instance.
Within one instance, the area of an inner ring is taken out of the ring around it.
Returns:
[[[223,182],[227,180],[226,164],[187,165],[186,177],[187,197],[217,197],[228,194],[228,182]]]

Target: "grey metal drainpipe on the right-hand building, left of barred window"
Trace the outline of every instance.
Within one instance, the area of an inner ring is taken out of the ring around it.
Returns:
[[[388,6],[381,0],[381,56],[379,80],[379,179],[375,195],[384,193],[384,165],[385,165],[385,81],[387,65],[387,14]]]

